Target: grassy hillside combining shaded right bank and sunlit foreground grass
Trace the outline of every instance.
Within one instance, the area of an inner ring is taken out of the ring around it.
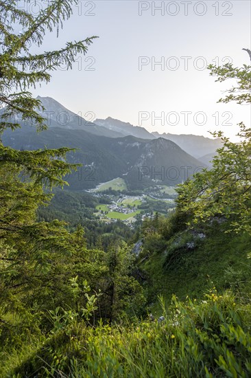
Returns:
[[[192,238],[195,248],[188,249]],[[164,322],[95,329],[73,318],[55,335],[38,335],[6,353],[2,376],[250,377],[250,251],[250,238],[224,234],[219,226],[204,240],[188,232],[176,234],[166,252],[141,264],[151,277],[148,291],[162,292],[169,304],[168,309],[163,302],[155,305]],[[168,254],[176,256],[169,266]],[[227,274],[230,268],[235,273]],[[241,295],[222,292],[229,287],[240,289]],[[171,301],[172,293],[184,302]]]

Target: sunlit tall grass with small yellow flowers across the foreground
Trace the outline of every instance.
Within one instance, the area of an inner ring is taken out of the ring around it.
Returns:
[[[4,377],[250,377],[250,304],[215,289],[202,300],[160,298],[163,322],[83,323],[5,355]]]

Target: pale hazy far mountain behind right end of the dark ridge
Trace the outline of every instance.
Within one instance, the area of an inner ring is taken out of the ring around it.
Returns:
[[[159,134],[157,132],[152,133],[155,137],[163,137],[167,140],[178,144],[182,150],[186,151],[190,155],[196,157],[197,159],[200,156],[207,154],[215,153],[217,148],[222,147],[222,142],[219,138],[211,139],[208,137],[203,137],[201,135],[187,135],[187,134],[170,134],[163,133]]]

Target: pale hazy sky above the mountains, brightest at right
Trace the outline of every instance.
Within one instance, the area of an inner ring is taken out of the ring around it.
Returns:
[[[250,48],[250,17],[248,0],[80,1],[59,38],[47,34],[43,48],[99,39],[72,70],[53,73],[34,94],[88,113],[88,120],[110,116],[159,133],[209,136],[220,129],[233,139],[238,122],[250,124],[250,107],[216,104],[232,84],[215,83],[203,67],[226,57],[249,64],[242,47]]]

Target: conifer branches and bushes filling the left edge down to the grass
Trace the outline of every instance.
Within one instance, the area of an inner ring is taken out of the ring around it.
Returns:
[[[29,47],[31,43],[42,47],[45,32],[62,25],[76,2],[53,1],[33,16],[20,10],[17,1],[0,1],[1,131],[19,126],[16,115],[23,121],[35,121],[38,129],[45,127],[38,113],[40,102],[26,89],[49,82],[49,71],[60,65],[70,68],[77,54],[86,53],[94,37],[39,55],[30,54]],[[16,22],[23,27],[19,35],[14,32]],[[104,253],[87,252],[81,229],[71,234],[62,221],[36,220],[38,207],[51,199],[45,188],[67,184],[63,177],[77,168],[66,162],[69,151],[72,149],[18,151],[3,146],[0,140],[1,348],[12,349],[34,334],[40,337],[47,333],[51,329],[45,316],[48,310],[62,307],[68,322],[79,306],[86,320],[95,309],[97,296],[84,292],[84,280],[89,278],[93,290],[101,285],[100,277],[106,272]],[[76,275],[81,278],[83,293],[77,304],[71,281]]]

